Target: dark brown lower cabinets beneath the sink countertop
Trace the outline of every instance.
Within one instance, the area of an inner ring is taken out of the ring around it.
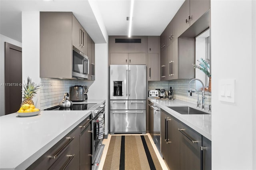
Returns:
[[[211,170],[211,141],[161,109],[161,153],[171,170]]]

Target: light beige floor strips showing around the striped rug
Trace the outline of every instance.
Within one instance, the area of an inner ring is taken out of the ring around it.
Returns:
[[[141,135],[141,134],[114,134],[114,135]],[[151,138],[150,134],[147,133],[146,135],[148,135],[148,138],[149,138],[149,140],[150,140],[150,142],[151,142],[151,144],[152,144],[152,146],[153,146],[153,148],[154,148],[154,150],[156,152],[156,156],[158,157],[158,160],[159,160],[163,170],[168,170],[169,168],[167,168],[164,160],[160,156],[160,154],[159,154],[159,152],[158,152],[158,150],[156,148],[156,145],[154,144],[154,141]],[[101,157],[101,160],[100,160],[100,165],[99,165],[98,170],[103,170],[103,165],[104,165],[104,162],[105,162],[105,159],[106,159],[106,155],[107,155],[108,146],[109,146],[109,142],[110,142],[111,136],[112,136],[111,134],[108,134],[108,138],[104,139],[103,142],[102,142],[103,144],[105,144],[105,147],[104,147],[104,150],[102,152],[102,157]]]

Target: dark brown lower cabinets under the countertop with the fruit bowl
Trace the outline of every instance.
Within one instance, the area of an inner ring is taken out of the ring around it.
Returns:
[[[91,169],[92,138],[90,116],[46,151],[27,170]],[[87,124],[88,123],[88,124]]]

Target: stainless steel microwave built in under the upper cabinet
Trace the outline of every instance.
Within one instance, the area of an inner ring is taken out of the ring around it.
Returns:
[[[72,77],[88,79],[89,59],[88,57],[73,46],[72,56]]]

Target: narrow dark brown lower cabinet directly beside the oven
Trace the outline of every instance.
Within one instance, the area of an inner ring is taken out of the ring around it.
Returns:
[[[92,167],[92,126],[90,117],[80,125],[80,170]]]

